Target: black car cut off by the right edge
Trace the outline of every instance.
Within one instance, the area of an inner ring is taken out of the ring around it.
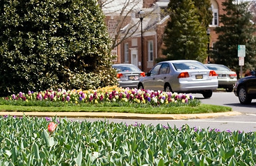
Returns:
[[[250,74],[234,84],[234,94],[237,95],[241,104],[250,104],[253,99],[256,99],[256,71],[251,71]]]

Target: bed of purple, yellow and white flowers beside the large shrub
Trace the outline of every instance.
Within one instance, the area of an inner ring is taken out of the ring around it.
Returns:
[[[104,102],[120,103],[129,102],[134,104],[149,104],[151,106],[160,105],[180,105],[180,104],[198,104],[191,94],[171,93],[163,91],[150,91],[140,89],[122,89],[117,86],[105,87],[97,90],[82,91],[58,89],[28,93],[19,92],[5,98],[10,101],[51,101],[66,102],[72,104],[92,103],[99,104]]]

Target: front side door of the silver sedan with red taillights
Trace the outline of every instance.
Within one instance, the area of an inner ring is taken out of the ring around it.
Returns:
[[[161,64],[157,64],[154,66],[149,73],[147,73],[147,77],[144,77],[143,86],[144,89],[150,89],[156,91],[157,82],[156,77],[159,75],[159,69]]]

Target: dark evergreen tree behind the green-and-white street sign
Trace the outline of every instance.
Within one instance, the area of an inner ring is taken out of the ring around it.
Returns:
[[[223,2],[223,10],[220,23],[223,26],[216,27],[218,41],[214,45],[212,58],[217,64],[224,64],[239,73],[239,57],[237,57],[238,45],[246,45],[245,68],[254,69],[256,66],[256,39],[255,25],[250,22],[251,13],[248,11],[248,3],[235,3],[233,0]]]

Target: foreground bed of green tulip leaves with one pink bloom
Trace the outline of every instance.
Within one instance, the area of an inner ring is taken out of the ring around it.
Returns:
[[[0,165],[255,165],[256,133],[0,117]]]

